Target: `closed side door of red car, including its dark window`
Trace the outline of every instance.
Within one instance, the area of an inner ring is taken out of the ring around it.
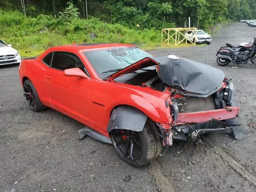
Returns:
[[[54,52],[44,78],[50,103],[56,110],[91,125],[89,114],[92,100],[88,90],[91,89],[92,81],[64,76],[64,70],[69,68],[80,68],[89,76],[78,56],[69,52]]]

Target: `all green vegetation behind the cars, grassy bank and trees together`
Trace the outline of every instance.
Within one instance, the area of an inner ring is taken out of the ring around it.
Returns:
[[[72,42],[157,45],[162,28],[184,26],[188,17],[195,27],[209,31],[229,20],[256,19],[255,0],[87,0],[88,20],[80,19],[86,12],[85,0],[66,2],[26,1],[25,18],[16,0],[0,1],[0,39],[18,50]],[[53,11],[60,14],[58,19]]]

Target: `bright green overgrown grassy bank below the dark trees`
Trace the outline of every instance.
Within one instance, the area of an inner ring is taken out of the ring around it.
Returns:
[[[48,15],[24,18],[18,11],[0,10],[0,39],[12,44],[22,58],[33,57],[58,45],[76,43],[119,42],[135,44],[146,50],[174,48],[174,42],[161,43],[161,31],[135,30],[120,24],[107,24],[96,18],[63,22]],[[179,46],[191,46],[185,43]]]

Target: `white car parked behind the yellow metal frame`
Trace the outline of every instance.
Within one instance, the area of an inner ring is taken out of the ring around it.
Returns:
[[[203,30],[196,30],[196,34],[195,31],[190,30],[185,36],[192,42],[195,42],[196,40],[196,43],[207,43],[209,45],[212,42],[212,37]]]

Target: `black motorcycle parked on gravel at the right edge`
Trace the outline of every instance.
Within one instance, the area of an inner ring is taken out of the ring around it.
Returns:
[[[220,66],[227,66],[230,62],[246,64],[249,61],[256,66],[256,37],[254,37],[253,44],[249,43],[242,47],[230,46],[231,44],[226,45],[225,47],[221,47],[216,54],[217,63]]]

